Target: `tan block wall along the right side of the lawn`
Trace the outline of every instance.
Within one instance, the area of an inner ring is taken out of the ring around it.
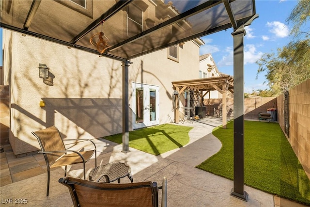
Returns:
[[[284,130],[284,95],[277,97],[279,125]],[[288,141],[310,179],[310,80],[289,90]]]

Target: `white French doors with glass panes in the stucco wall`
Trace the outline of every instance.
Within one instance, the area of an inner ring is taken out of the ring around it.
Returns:
[[[159,86],[132,83],[133,129],[159,124]]]

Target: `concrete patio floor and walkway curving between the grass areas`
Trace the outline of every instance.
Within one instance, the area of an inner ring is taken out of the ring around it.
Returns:
[[[166,176],[169,207],[303,207],[248,186],[245,186],[248,202],[231,196],[232,180],[195,168],[221,148],[221,143],[211,133],[214,127],[221,125],[221,119],[208,117],[194,121],[193,124],[186,121],[184,125],[194,127],[189,132],[190,143],[160,156],[133,148],[124,154],[121,152],[122,145],[105,139],[94,139],[97,145],[97,165],[124,162],[131,167],[134,182],[150,180],[161,185],[162,177]],[[87,149],[88,146],[83,147]],[[22,199],[27,199],[27,204],[31,207],[72,206],[69,191],[58,183],[59,178],[64,175],[62,168],[51,171],[47,197],[47,167],[43,156],[35,154],[16,159],[9,145],[4,149],[0,169],[1,206],[20,206],[15,201]],[[94,159],[86,163],[86,175],[93,167]],[[82,171],[82,165],[78,164],[71,167],[68,175],[82,178]],[[121,182],[130,180],[124,177]]]

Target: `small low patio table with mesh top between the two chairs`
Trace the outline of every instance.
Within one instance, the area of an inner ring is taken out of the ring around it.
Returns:
[[[117,180],[118,183],[121,183],[121,178],[125,176],[128,176],[130,181],[133,182],[129,166],[123,162],[110,162],[94,168],[89,174],[89,180],[102,183],[110,183]]]

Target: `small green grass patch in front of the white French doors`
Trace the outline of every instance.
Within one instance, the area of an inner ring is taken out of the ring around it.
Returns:
[[[143,152],[160,155],[180,148],[189,142],[188,132],[193,127],[164,124],[129,132],[129,146]],[[122,134],[104,137],[115,143],[122,143]]]

